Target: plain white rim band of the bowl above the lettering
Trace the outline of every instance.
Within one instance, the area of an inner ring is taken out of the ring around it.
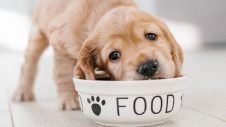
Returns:
[[[150,95],[183,91],[187,77],[162,80],[102,81],[73,77],[75,89],[84,94]]]

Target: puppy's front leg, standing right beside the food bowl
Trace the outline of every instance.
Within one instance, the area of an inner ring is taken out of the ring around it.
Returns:
[[[75,91],[72,77],[76,60],[54,50],[54,78],[62,110],[79,109],[78,95]]]

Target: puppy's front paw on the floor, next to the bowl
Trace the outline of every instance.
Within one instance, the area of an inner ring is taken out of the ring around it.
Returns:
[[[78,110],[80,109],[78,97],[60,98],[61,110]]]

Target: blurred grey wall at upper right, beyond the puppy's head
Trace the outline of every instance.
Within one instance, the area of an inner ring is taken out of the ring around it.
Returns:
[[[157,0],[156,8],[163,17],[197,26],[204,43],[226,43],[226,0]]]

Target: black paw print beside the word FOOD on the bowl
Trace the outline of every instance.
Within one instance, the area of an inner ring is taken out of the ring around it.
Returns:
[[[92,108],[92,111],[95,115],[99,116],[100,113],[101,113],[101,106],[105,105],[105,100],[100,100],[100,97],[96,97],[94,98],[94,96],[91,96],[91,100],[90,98],[87,98],[87,101],[89,104],[91,104],[91,108]]]

